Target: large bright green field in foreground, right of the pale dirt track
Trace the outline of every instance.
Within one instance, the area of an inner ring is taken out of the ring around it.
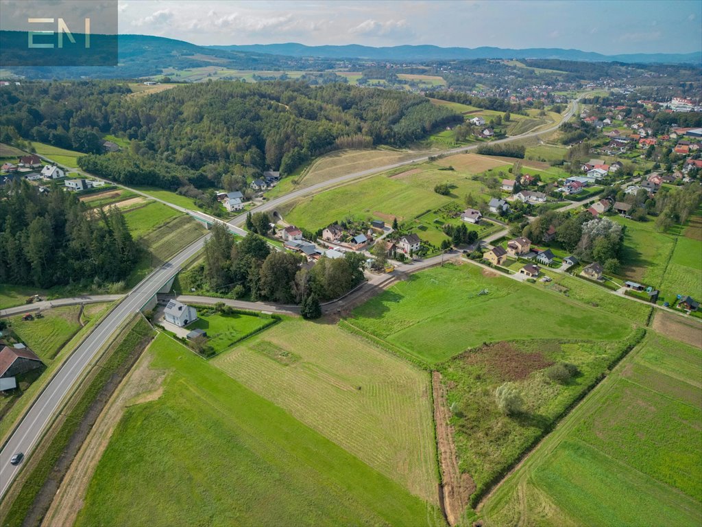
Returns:
[[[77,526],[439,525],[438,508],[164,334],[156,400],[132,405]],[[168,448],[164,448],[167,444]]]

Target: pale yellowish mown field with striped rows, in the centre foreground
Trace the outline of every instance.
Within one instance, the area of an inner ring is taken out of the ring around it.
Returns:
[[[299,319],[284,320],[212,363],[411,493],[437,503],[425,372],[337,325]]]

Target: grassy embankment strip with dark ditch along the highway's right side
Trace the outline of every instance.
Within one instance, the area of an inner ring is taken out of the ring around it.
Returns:
[[[153,330],[137,315],[124,328],[124,338],[114,341],[74,393],[44,438],[44,444],[28,457],[20,479],[0,507],[2,525],[38,525],[51,504],[55,490],[68,469],[82,439],[97,419],[102,405],[128,371]],[[88,421],[88,422],[86,422]],[[47,442],[48,441],[48,442]],[[53,492],[47,494],[48,490]]]

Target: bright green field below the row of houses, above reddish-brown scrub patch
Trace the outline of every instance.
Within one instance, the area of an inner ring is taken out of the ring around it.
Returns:
[[[348,322],[430,365],[483,342],[621,339],[630,330],[625,320],[483,271],[466,263],[411,275],[356,308]],[[484,289],[489,293],[479,295]],[[528,323],[510,322],[525,316]]]

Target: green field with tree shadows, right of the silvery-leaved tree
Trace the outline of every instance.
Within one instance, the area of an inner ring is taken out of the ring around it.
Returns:
[[[634,221],[622,216],[611,219],[626,226],[620,274],[629,280],[659,287],[675,246],[675,237],[656,231],[654,221]]]

